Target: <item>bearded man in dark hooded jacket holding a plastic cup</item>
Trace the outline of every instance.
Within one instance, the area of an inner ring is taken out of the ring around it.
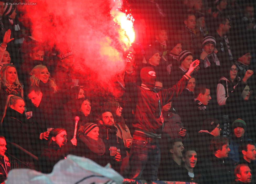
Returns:
[[[114,117],[109,110],[104,110],[99,120],[99,138],[105,144],[105,156],[116,172],[120,173],[122,159],[126,157],[124,142],[117,136]],[[110,156],[110,147],[116,147],[115,156]],[[120,153],[117,152],[120,149]]]

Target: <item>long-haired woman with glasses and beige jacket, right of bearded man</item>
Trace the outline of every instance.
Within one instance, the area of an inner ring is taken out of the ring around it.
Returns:
[[[132,144],[132,136],[129,128],[125,124],[124,118],[121,116],[123,109],[121,105],[119,104],[119,102],[113,100],[110,102],[106,102],[104,104],[104,109],[108,109],[111,111],[114,117],[115,127],[118,129],[116,135],[124,141],[124,145],[126,148],[130,148]]]

